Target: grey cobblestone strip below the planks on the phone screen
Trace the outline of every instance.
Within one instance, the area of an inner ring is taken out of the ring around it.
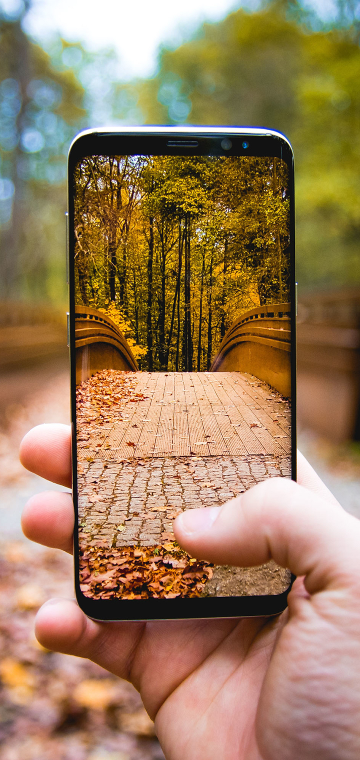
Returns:
[[[82,462],[79,520],[90,546],[152,546],[174,540],[172,521],[180,511],[221,505],[280,475],[290,475],[288,457]]]

